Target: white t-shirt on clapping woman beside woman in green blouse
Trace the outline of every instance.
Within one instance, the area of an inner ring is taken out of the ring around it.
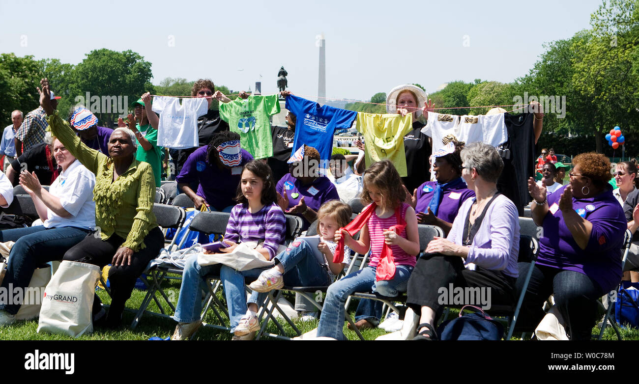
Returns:
[[[62,207],[69,212],[69,218],[63,218],[47,208],[45,228],[75,226],[93,230],[95,228],[95,202],[93,202],[95,175],[79,160],[61,172],[49,192],[60,199]]]

